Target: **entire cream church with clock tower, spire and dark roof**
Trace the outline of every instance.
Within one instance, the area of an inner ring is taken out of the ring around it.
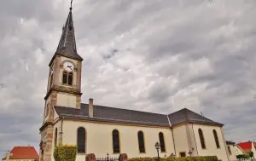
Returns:
[[[60,42],[49,61],[49,78],[44,97],[44,119],[40,128],[40,161],[54,161],[56,146],[76,145],[77,161],[88,153],[96,158],[160,157],[175,155],[212,156],[230,161],[224,124],[182,109],[170,114],[139,112],[81,102],[83,58],[78,54],[70,8]],[[86,91],[90,92],[90,91]]]

